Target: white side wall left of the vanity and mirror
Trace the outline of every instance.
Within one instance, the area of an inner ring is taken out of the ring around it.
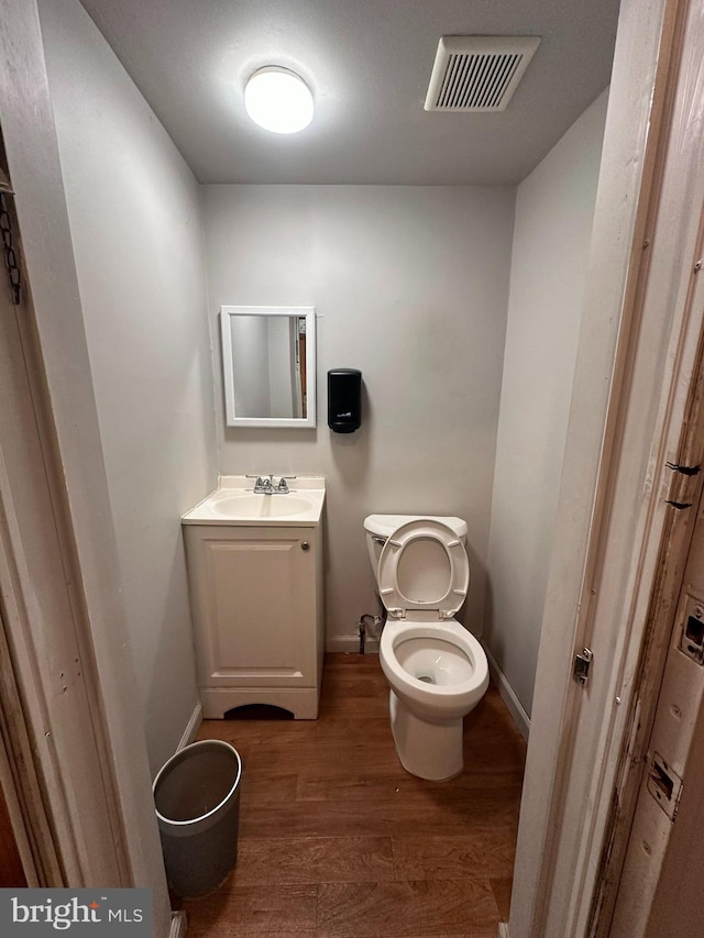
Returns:
[[[217,476],[198,185],[80,4],[41,18],[155,770],[197,703],[179,515]]]

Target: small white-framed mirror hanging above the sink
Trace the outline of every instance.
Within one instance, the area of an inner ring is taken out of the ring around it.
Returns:
[[[310,306],[221,306],[228,427],[316,426]]]

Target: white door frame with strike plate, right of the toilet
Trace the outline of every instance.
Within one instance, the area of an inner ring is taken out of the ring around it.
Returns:
[[[622,4],[512,938],[583,938],[597,923],[614,794],[638,727],[648,608],[679,514],[667,503],[686,497],[667,463],[686,459],[704,325],[692,304],[704,174],[691,123],[703,12],[702,0]],[[583,647],[594,652],[585,688],[571,676]]]

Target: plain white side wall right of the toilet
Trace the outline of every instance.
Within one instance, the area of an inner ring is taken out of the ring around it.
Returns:
[[[527,714],[552,549],[607,91],[518,187],[484,638]]]

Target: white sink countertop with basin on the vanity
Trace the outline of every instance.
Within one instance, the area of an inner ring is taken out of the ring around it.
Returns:
[[[255,481],[243,475],[220,476],[218,488],[187,511],[180,519],[182,525],[284,528],[320,525],[326,497],[322,476],[289,479],[290,489],[286,495],[255,495]]]

